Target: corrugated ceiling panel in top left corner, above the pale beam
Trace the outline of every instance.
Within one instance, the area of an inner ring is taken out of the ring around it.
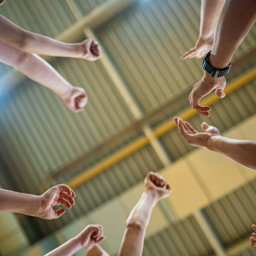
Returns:
[[[76,22],[64,0],[8,0],[0,14],[23,29],[53,38]]]

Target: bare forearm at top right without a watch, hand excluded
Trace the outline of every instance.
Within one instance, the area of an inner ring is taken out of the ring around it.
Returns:
[[[214,38],[218,19],[225,0],[202,0],[199,37]]]

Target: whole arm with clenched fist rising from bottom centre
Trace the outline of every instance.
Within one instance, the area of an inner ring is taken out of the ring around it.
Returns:
[[[145,190],[126,221],[125,233],[118,256],[141,256],[151,212],[157,201],[170,195],[171,188],[163,177],[150,172],[145,178]]]

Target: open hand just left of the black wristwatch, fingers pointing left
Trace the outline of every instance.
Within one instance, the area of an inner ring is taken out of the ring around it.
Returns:
[[[185,52],[180,59],[186,60],[187,58],[202,58],[206,55],[209,50],[212,49],[214,36],[210,38],[198,38],[198,41],[195,43],[195,46],[189,51]]]

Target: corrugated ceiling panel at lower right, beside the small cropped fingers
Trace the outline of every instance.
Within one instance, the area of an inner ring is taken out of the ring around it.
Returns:
[[[250,239],[251,226],[256,220],[255,201],[256,180],[253,180],[203,210],[224,246],[241,238]]]

